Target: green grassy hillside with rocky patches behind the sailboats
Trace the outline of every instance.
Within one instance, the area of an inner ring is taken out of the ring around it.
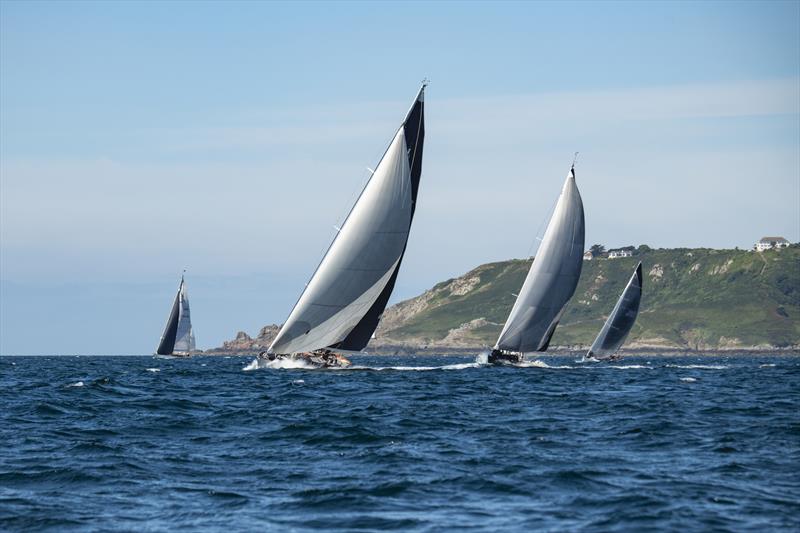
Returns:
[[[756,253],[642,246],[636,254],[584,261],[554,346],[589,344],[640,260],[644,295],[629,346],[800,344],[800,247]],[[493,344],[529,267],[529,260],[482,265],[401,302],[384,314],[378,342]]]

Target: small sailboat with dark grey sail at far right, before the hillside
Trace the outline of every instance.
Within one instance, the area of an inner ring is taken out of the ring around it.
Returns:
[[[625,286],[625,290],[617,300],[614,310],[611,311],[611,315],[603,325],[603,329],[597,334],[597,338],[589,348],[586,359],[619,359],[619,356],[615,354],[625,342],[633,323],[636,322],[641,301],[642,263],[639,263]]]

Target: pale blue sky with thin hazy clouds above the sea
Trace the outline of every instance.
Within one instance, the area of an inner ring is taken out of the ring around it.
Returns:
[[[0,2],[0,353],[285,319],[429,77],[394,301],[587,240],[800,240],[800,3]]]

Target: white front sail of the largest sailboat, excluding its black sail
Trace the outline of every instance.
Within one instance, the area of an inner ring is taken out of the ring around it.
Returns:
[[[401,127],[270,345],[271,353],[313,351],[342,341],[386,287],[411,225],[406,152]]]

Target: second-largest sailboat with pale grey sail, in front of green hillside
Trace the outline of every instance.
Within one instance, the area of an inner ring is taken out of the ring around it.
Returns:
[[[518,364],[524,354],[547,350],[583,266],[583,201],[569,170],[553,216],[489,363]]]

